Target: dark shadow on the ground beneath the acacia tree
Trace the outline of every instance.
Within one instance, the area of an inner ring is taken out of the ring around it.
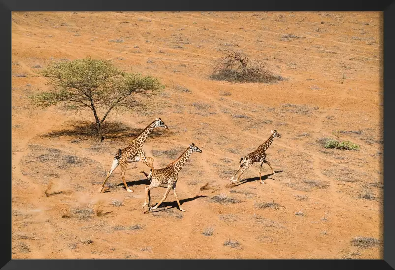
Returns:
[[[49,133],[42,134],[41,137],[56,138],[59,136],[69,136],[80,139],[97,138],[96,125],[90,121],[70,121],[67,123],[67,125],[70,128],[51,131]],[[104,139],[123,139],[135,137],[144,130],[144,128],[131,128],[122,122],[104,122],[101,126]],[[174,130],[157,127],[150,133],[149,137],[166,138],[173,134],[176,134]]]

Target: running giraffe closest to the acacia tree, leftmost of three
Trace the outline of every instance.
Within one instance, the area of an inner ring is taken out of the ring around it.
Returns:
[[[118,149],[117,154],[114,157],[113,164],[111,166],[110,171],[107,173],[106,180],[104,180],[103,185],[100,187],[99,192],[101,193],[103,191],[103,187],[107,181],[107,179],[111,176],[115,168],[118,167],[118,165],[121,165],[121,178],[123,180],[123,183],[125,184],[126,190],[128,192],[133,192],[133,190],[129,189],[129,187],[126,184],[125,181],[125,173],[127,169],[128,163],[131,162],[136,162],[136,161],[141,161],[144,164],[146,164],[148,167],[153,168],[153,158],[152,157],[146,157],[145,152],[143,150],[143,145],[144,142],[146,141],[148,134],[152,132],[152,130],[155,127],[164,127],[167,128],[167,125],[160,119],[156,118],[155,121],[153,121],[149,126],[147,126],[139,135],[137,135],[130,144],[123,149]],[[148,162],[148,160],[152,161],[152,164]]]

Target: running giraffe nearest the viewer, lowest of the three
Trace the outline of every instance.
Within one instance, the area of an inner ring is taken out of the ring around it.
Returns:
[[[179,209],[182,212],[185,212],[185,210],[183,210],[180,205],[180,201],[178,200],[176,184],[178,180],[178,173],[180,172],[188,158],[191,156],[192,152],[201,153],[202,150],[200,150],[197,146],[195,146],[194,143],[192,143],[192,145],[189,145],[189,147],[182,153],[182,155],[178,159],[167,165],[165,168],[150,168],[150,174],[148,175],[146,172],[141,171],[141,173],[143,173],[148,180],[151,180],[151,184],[149,186],[145,186],[144,188],[146,196],[143,208],[148,205],[148,210],[145,213],[149,213],[150,210],[156,209],[161,203],[163,203],[163,201],[166,200],[167,196],[169,195],[171,189],[173,189],[174,197],[176,198]],[[165,195],[157,205],[150,208],[150,190],[160,186],[161,184],[167,184]]]

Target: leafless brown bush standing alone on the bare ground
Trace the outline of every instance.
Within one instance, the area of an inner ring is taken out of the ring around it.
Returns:
[[[271,83],[283,80],[266,69],[260,60],[250,60],[248,55],[236,51],[223,51],[224,56],[213,61],[210,78],[217,81]]]

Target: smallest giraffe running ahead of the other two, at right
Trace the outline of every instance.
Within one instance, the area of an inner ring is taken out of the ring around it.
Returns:
[[[252,153],[247,154],[245,157],[242,157],[239,161],[240,166],[237,172],[233,175],[231,178],[231,183],[235,183],[239,180],[239,178],[242,176],[242,174],[252,166],[255,162],[259,162],[260,164],[260,171],[259,171],[259,182],[261,184],[264,184],[262,181],[262,165],[263,163],[266,163],[269,165],[270,169],[272,169],[272,173],[275,175],[275,172],[272,168],[272,165],[270,165],[269,161],[266,160],[266,150],[269,148],[269,146],[272,144],[274,137],[281,138],[281,135],[277,132],[277,130],[271,130],[270,131],[272,135],[270,135],[269,139],[266,140],[263,144],[261,144],[257,150],[253,151]],[[233,180],[237,173],[240,171],[240,174],[236,180]]]

